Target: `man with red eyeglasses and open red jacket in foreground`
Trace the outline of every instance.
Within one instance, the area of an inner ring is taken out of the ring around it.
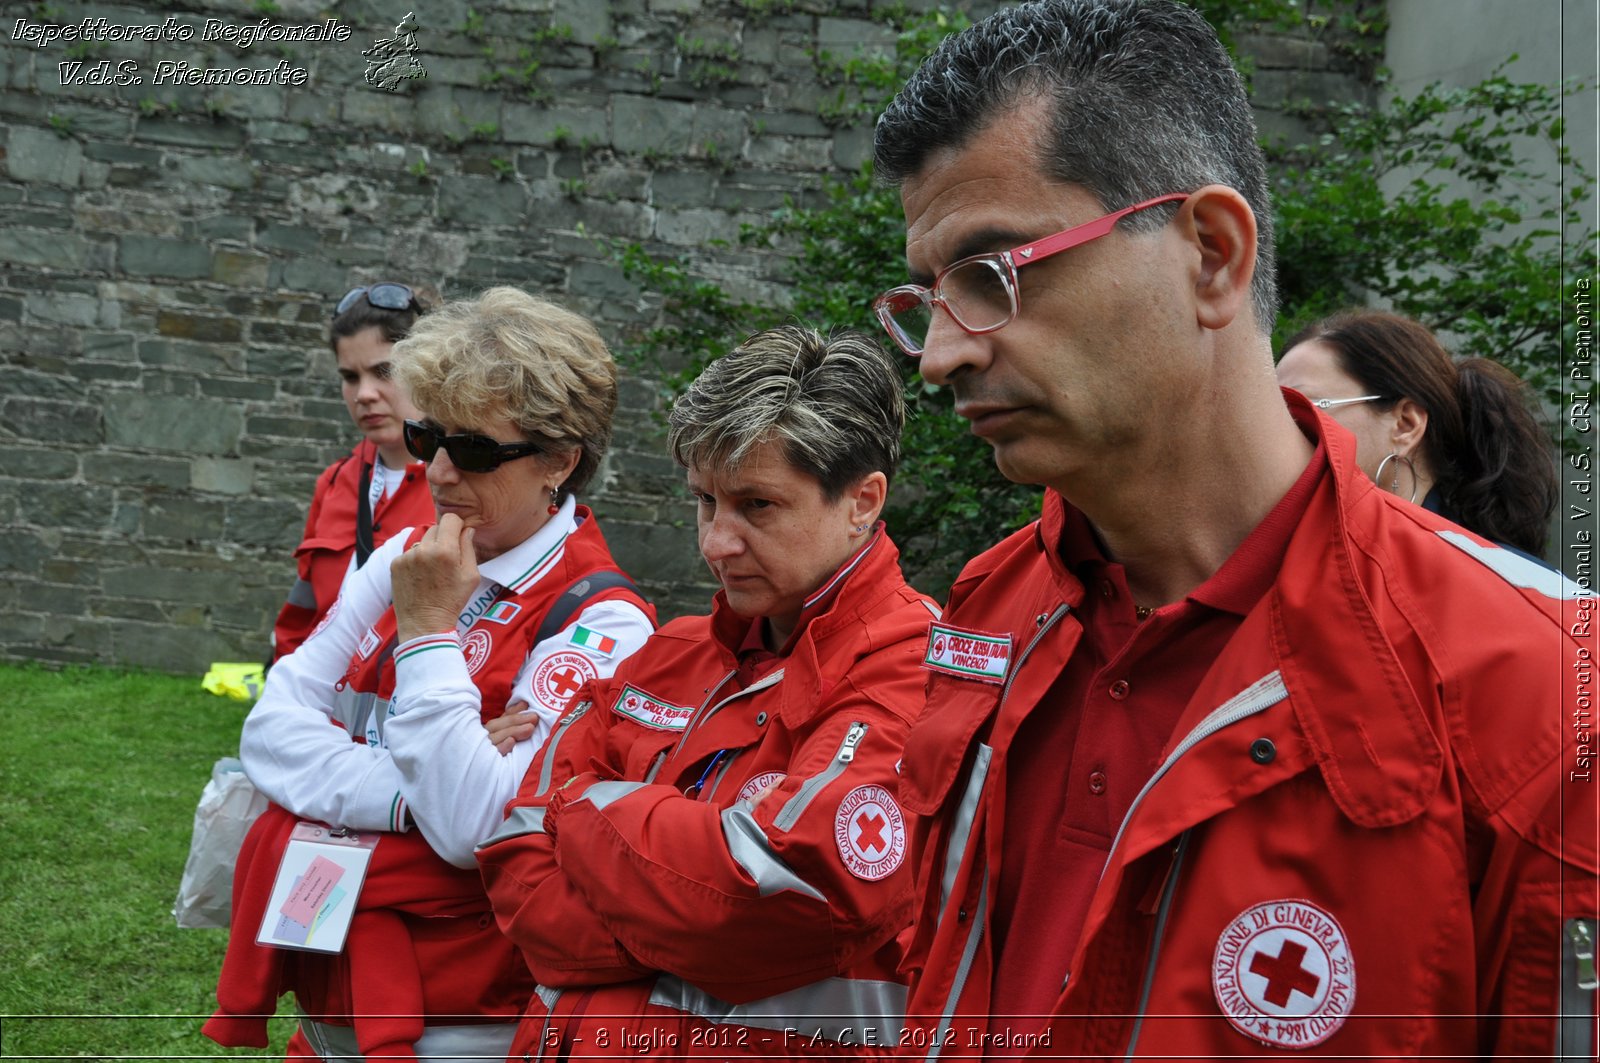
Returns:
[[[928,632],[904,1041],[1592,1058],[1595,597],[1374,490],[1277,387],[1266,171],[1211,27],[1008,8],[875,154],[912,279],[878,319],[1046,488]]]

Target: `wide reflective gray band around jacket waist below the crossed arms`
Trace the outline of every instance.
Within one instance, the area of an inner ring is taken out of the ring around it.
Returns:
[[[870,978],[824,978],[749,1004],[728,1004],[682,978],[661,975],[650,1002],[720,1026],[782,1029],[803,1041],[822,1037],[838,1044],[893,1044],[906,1023],[906,986]],[[806,1020],[837,1023],[813,1031]],[[867,1029],[875,1041],[862,1037]]]

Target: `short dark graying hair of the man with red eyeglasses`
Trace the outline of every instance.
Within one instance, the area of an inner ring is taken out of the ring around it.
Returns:
[[[1277,315],[1272,202],[1245,83],[1192,8],[1173,0],[1034,0],[947,37],[878,118],[875,166],[894,184],[1029,98],[1053,101],[1045,171],[1107,211],[1226,184],[1256,215],[1251,301]],[[1150,232],[1174,207],[1126,218]],[[1043,235],[1043,234],[1040,234]]]

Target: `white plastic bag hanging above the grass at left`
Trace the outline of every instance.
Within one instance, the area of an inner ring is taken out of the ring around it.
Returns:
[[[195,832],[173,917],[179,927],[226,927],[234,908],[234,864],[250,824],[267,808],[238,757],[222,757],[211,767],[211,781],[200,792]]]

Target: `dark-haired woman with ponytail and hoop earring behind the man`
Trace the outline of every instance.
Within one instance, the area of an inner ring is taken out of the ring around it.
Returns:
[[[1544,564],[1558,496],[1550,437],[1506,367],[1458,362],[1424,325],[1358,309],[1291,338],[1278,383],[1355,434],[1381,488]]]

